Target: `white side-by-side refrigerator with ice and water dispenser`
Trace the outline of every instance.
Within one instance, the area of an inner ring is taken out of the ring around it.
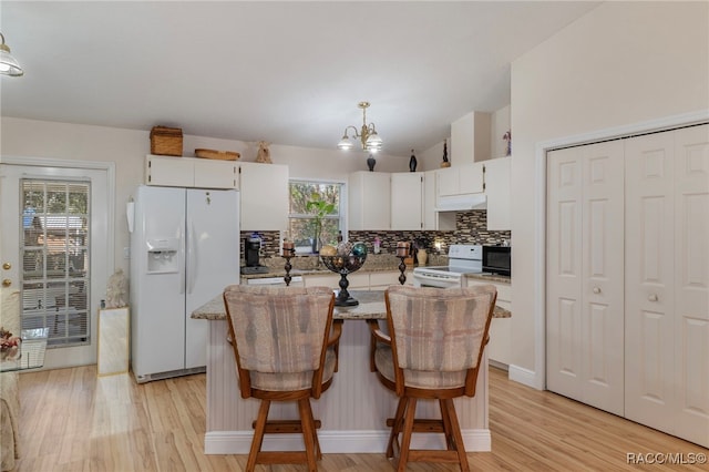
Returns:
[[[239,283],[238,198],[237,191],[143,185],[129,204],[138,382],[205,370],[208,321],[191,315]]]

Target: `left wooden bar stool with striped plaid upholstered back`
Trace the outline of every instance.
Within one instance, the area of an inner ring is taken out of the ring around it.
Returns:
[[[233,285],[224,302],[242,398],[260,400],[246,470],[307,463],[316,471],[322,454],[310,398],[332,383],[341,334],[332,324],[332,289]],[[268,420],[274,401],[296,401],[299,420]],[[294,432],[302,433],[305,451],[261,451],[264,434]]]

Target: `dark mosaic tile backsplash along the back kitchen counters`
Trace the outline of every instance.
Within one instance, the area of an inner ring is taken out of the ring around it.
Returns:
[[[349,232],[349,240],[364,242],[368,249],[373,250],[374,237],[381,239],[381,253],[394,254],[397,243],[400,240],[421,242],[427,244],[431,254],[446,254],[451,244],[483,244],[500,245],[504,240],[511,240],[512,232],[487,230],[487,212],[475,209],[470,212],[459,212],[455,215],[455,230],[448,232]],[[248,238],[253,232],[242,232],[239,240],[242,258],[244,257],[244,239]],[[279,232],[258,232],[261,244],[261,257],[280,256],[280,234]]]

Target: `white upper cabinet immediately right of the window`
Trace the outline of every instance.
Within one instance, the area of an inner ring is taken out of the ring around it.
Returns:
[[[349,175],[349,229],[391,228],[391,174],[353,172]]]

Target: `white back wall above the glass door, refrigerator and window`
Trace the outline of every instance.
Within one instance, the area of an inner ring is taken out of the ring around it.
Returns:
[[[129,273],[123,248],[129,247],[125,203],[136,186],[143,183],[145,155],[150,154],[150,130],[76,125],[2,117],[0,123],[0,155],[48,157],[115,163],[115,268]],[[183,154],[194,156],[195,148],[237,151],[243,161],[256,158],[257,146],[242,141],[216,140],[185,135]],[[347,181],[353,171],[367,170],[367,154],[271,144],[275,164],[287,164],[291,177]],[[177,157],[176,157],[177,158]],[[409,157],[377,155],[377,172],[408,172]]]

